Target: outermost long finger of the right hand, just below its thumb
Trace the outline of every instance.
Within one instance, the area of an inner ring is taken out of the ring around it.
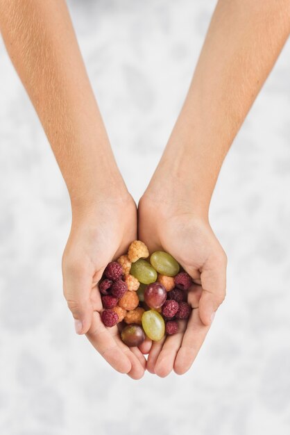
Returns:
[[[201,345],[209,329],[209,326],[205,326],[203,322],[201,322],[199,309],[192,310],[180,350],[178,350],[173,366],[177,375],[183,375],[189,370],[201,349]]]

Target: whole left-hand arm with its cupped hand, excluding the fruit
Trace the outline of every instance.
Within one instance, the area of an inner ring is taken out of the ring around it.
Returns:
[[[69,190],[72,223],[62,273],[76,331],[113,368],[139,379],[144,355],[121,342],[117,326],[104,327],[97,286],[105,265],[137,237],[137,210],[114,161],[67,6],[1,0],[0,28]]]

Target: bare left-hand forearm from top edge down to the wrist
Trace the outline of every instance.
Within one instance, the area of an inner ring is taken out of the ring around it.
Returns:
[[[72,203],[123,188],[65,1],[1,0],[0,28]]]

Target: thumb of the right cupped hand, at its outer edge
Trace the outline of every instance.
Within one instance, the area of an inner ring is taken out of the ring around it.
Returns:
[[[201,270],[203,293],[199,301],[199,312],[204,325],[210,325],[214,313],[225,299],[226,256],[209,258]]]

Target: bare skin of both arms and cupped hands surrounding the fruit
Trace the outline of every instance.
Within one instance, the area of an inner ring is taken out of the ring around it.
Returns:
[[[139,379],[144,356],[121,343],[117,327],[103,327],[97,287],[105,265],[137,236],[136,208],[65,2],[0,0],[0,28],[69,190],[72,224],[62,270],[76,330],[87,333],[112,367]],[[219,1],[187,99],[139,203],[139,238],[151,251],[171,252],[196,282],[187,328],[182,324],[179,334],[155,343],[148,356],[147,368],[157,375],[188,370],[224,298],[226,259],[208,221],[210,199],[223,158],[288,34],[288,1]],[[149,348],[146,343],[142,351]]]

